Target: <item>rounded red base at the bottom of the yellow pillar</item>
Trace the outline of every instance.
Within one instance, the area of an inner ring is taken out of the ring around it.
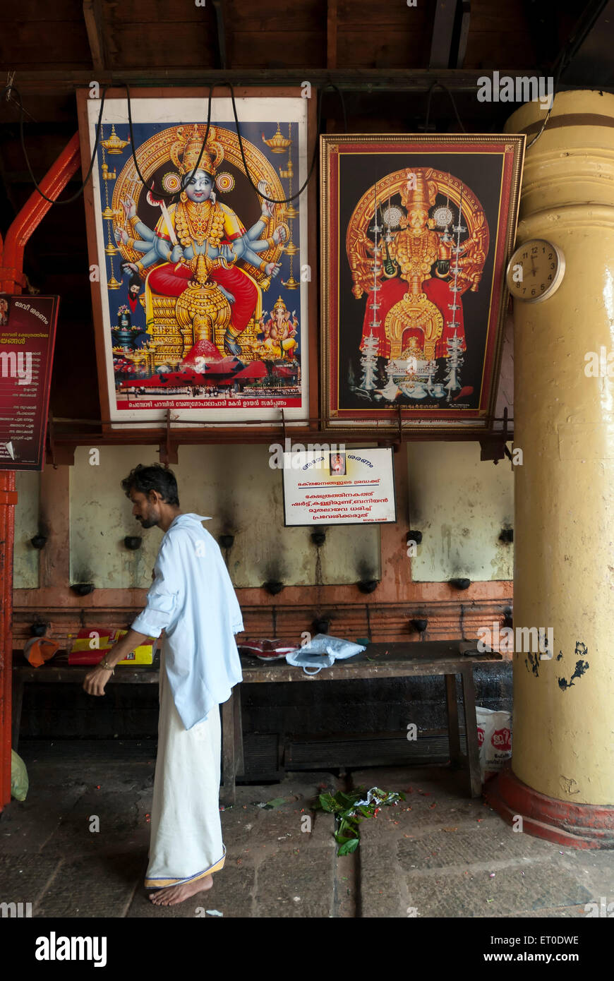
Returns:
[[[486,800],[512,824],[522,816],[523,831],[574,849],[614,849],[614,807],[571,803],[539,794],[511,767],[486,784]]]

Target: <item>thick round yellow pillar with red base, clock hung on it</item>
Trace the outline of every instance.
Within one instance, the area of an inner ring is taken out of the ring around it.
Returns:
[[[544,115],[528,103],[505,129],[530,143]],[[554,650],[514,654],[511,772],[488,797],[525,831],[611,847],[614,377],[585,369],[588,352],[614,352],[613,95],[556,96],[527,151],[520,219],[517,244],[546,238],[566,260],[553,296],[514,302],[514,628],[551,627]]]

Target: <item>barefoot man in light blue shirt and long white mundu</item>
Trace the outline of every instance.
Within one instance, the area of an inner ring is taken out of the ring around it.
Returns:
[[[153,903],[171,905],[210,889],[226,858],[218,705],[242,680],[234,634],[243,622],[219,545],[201,524],[209,519],[181,513],[174,474],[160,464],[139,464],[122,488],[141,526],[157,525],[165,534],[145,609],[88,672],[83,688],[104,695],[118,661],[164,630],[145,888],[157,890],[149,897]]]

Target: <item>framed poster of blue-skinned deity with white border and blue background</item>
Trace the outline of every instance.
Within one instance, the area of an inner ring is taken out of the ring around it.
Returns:
[[[78,97],[85,173],[101,102]],[[209,128],[208,110],[205,88],[131,89],[130,127],[126,90],[105,96],[86,211],[112,425],[160,423],[168,410],[189,424],[310,415],[315,190],[296,195],[314,152],[315,99],[236,89],[233,104],[222,88]]]

